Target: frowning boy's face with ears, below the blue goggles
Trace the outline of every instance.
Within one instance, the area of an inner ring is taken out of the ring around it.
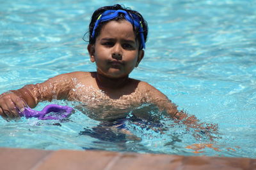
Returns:
[[[122,78],[138,66],[144,51],[130,22],[110,21],[102,26],[94,45],[88,45],[92,62],[96,62],[97,73],[109,78]]]

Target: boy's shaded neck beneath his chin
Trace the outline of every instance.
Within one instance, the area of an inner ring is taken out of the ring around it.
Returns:
[[[108,78],[102,74],[96,73],[97,84],[103,89],[118,89],[124,87],[128,80],[128,76],[122,78]]]

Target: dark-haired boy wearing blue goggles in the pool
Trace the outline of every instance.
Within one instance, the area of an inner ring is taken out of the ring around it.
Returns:
[[[89,117],[111,121],[125,118],[129,111],[150,103],[188,127],[205,129],[194,116],[178,111],[159,90],[129,78],[144,57],[147,40],[147,22],[140,13],[119,4],[104,6],[93,13],[89,32],[88,52],[97,72],[60,74],[43,83],[4,93],[0,97],[0,115],[9,120],[19,117],[18,111],[23,111],[27,104],[35,108],[40,101],[67,99],[84,103],[90,110]]]

